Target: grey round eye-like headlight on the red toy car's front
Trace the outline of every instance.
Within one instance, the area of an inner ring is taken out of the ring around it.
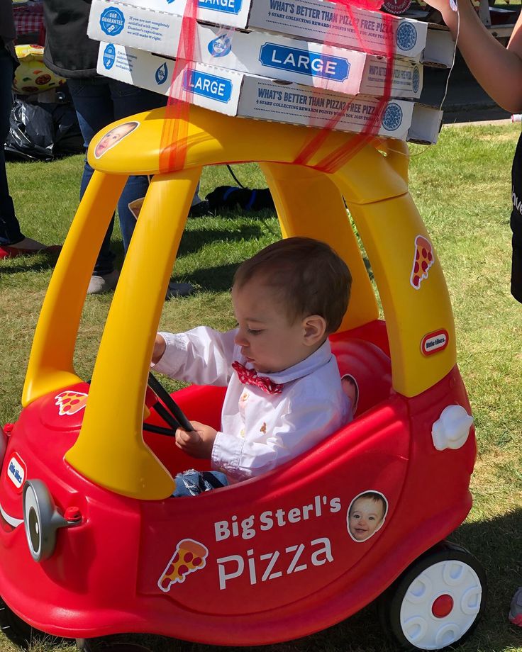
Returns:
[[[23,485],[23,524],[31,556],[40,562],[55,551],[57,529],[71,523],[57,512],[42,480],[27,480]]]

